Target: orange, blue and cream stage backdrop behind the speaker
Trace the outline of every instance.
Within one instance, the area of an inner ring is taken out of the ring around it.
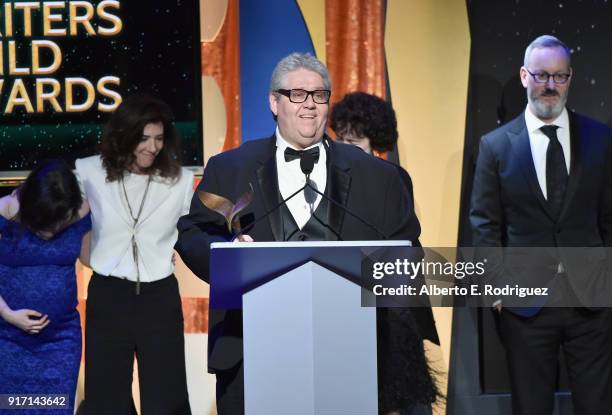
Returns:
[[[470,45],[464,1],[201,1],[205,160],[243,141],[269,137],[274,120],[267,94],[274,64],[293,51],[313,53],[332,74],[332,101],[354,90],[392,101],[399,160],[413,178],[421,242],[456,244]],[[203,305],[207,293],[194,278],[181,275],[181,292],[184,300],[189,296],[191,304]],[[445,392],[452,310],[434,313],[441,347],[426,345]],[[186,342],[195,352],[206,327],[193,327]],[[190,356],[195,362],[195,353]],[[210,379],[192,379],[190,388],[209,385],[213,394]],[[444,402],[434,412],[445,413]]]

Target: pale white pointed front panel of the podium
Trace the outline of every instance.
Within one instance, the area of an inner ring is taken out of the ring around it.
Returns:
[[[308,262],[243,297],[248,415],[376,414],[376,310]]]

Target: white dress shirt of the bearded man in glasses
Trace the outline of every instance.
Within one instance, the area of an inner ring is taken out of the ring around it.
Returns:
[[[544,198],[548,199],[546,192],[546,150],[548,150],[550,139],[540,130],[540,127],[544,125],[556,125],[559,127],[557,128],[557,138],[563,148],[565,165],[569,174],[571,151],[567,109],[563,108],[561,114],[553,122],[547,124],[533,115],[528,106],[525,110],[525,124],[527,124],[527,132],[529,133],[531,157],[533,157],[533,165],[538,177],[538,183],[540,184],[540,189],[542,189]]]

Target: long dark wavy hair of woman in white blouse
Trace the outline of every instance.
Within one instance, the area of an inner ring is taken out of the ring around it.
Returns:
[[[123,177],[136,160],[134,149],[142,139],[145,126],[159,122],[164,125],[164,147],[143,173],[173,179],[180,175],[179,138],[170,107],[152,95],[134,94],[119,105],[104,126],[100,156],[107,181]]]

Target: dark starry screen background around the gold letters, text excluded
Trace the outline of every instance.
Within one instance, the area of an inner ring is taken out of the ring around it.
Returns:
[[[92,2],[94,7],[98,2]],[[165,100],[176,116],[176,125],[183,140],[182,163],[202,165],[201,126],[201,71],[200,29],[198,0],[124,0],[120,10],[109,9],[123,21],[117,36],[86,36],[79,26],[77,37],[48,37],[62,51],[60,69],[50,77],[62,85],[58,97],[64,107],[64,79],[83,77],[95,88],[97,81],[107,75],[121,78],[120,86],[108,86],[124,98],[134,92],[149,92]],[[0,17],[3,21],[3,9]],[[55,13],[60,13],[59,10]],[[53,27],[68,27],[68,9],[61,11],[64,22]],[[5,41],[5,68],[8,65],[8,40],[19,45],[18,66],[30,67],[30,41],[43,39],[42,10],[32,12],[31,38],[23,38],[22,12],[15,11],[15,36],[0,38]],[[97,27],[97,18],[92,24]],[[110,23],[101,22],[109,27]],[[2,25],[4,28],[4,25]],[[2,31],[4,33],[4,31]],[[44,56],[44,55],[43,55]],[[49,60],[50,62],[50,60]],[[45,65],[42,60],[41,65]],[[83,113],[27,114],[23,106],[16,106],[13,114],[4,108],[13,85],[13,78],[5,70],[4,89],[0,97],[0,176],[1,172],[31,170],[47,158],[62,158],[73,162],[76,158],[96,154],[97,144],[108,113],[100,113],[96,103]],[[21,76],[35,106],[34,76]],[[96,102],[101,95],[96,92]],[[76,103],[83,102],[78,95]],[[109,103],[109,100],[106,100]],[[50,108],[49,105],[47,105]]]

